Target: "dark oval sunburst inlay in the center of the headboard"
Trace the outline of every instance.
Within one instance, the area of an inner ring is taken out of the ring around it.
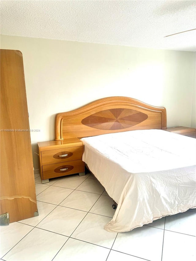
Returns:
[[[132,127],[145,121],[148,115],[131,109],[102,110],[84,118],[81,123],[102,130],[120,130]]]

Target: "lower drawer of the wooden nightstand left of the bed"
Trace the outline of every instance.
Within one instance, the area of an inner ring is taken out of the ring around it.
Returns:
[[[74,160],[42,166],[43,179],[66,176],[74,173],[84,172],[84,162]]]

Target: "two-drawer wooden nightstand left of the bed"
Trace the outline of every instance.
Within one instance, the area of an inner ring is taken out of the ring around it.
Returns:
[[[50,178],[79,173],[85,175],[82,161],[84,147],[77,138],[38,142],[40,177],[43,183]]]

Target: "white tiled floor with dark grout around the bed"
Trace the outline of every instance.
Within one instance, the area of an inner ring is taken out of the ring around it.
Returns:
[[[113,201],[92,174],[35,182],[39,216],[1,226],[1,260],[196,260],[196,209],[110,233]]]

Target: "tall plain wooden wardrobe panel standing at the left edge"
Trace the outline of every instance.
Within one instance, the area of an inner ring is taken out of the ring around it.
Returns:
[[[23,58],[1,50],[1,214],[10,222],[37,211]]]

